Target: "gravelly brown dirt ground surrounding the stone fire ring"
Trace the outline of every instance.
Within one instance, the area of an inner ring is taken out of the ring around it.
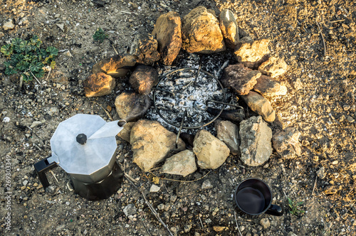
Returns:
[[[0,1],[0,45],[36,34],[43,45],[61,50],[55,70],[41,79],[43,85],[32,81],[20,89],[16,77],[0,71],[1,121],[10,118],[0,123],[0,235],[169,235],[129,182],[108,200],[93,202],[70,191],[69,176],[61,168],[48,173],[52,189],[45,192],[33,163],[51,155],[49,140],[63,120],[77,113],[108,119],[103,107],[114,107],[110,113],[116,113],[115,97],[125,90],[125,80],[104,97],[87,98],[82,86],[95,62],[115,55],[112,45],[125,53],[135,34],[152,32],[160,14],[184,16],[196,6],[216,14],[231,9],[242,33],[271,39],[272,54],[289,65],[281,78],[288,95],[270,99],[278,116],[271,127],[273,132],[296,127],[303,153],[286,160],[273,153],[260,167],[244,166],[239,156],[230,156],[220,168],[187,178],[154,171],[172,181],[143,173],[131,161],[130,144],[118,139],[117,159],[125,172],[174,235],[239,235],[236,225],[242,235],[356,235],[356,4],[351,0]],[[15,28],[4,31],[9,18]],[[112,45],[93,41],[97,28],[108,33]],[[1,56],[0,65],[5,60]],[[42,123],[29,129],[34,121]],[[10,189],[6,162],[11,163]],[[323,179],[316,174],[322,167]],[[273,202],[286,210],[283,216],[235,218],[231,195],[249,177],[271,186]],[[212,188],[201,188],[204,181]],[[153,183],[159,192],[150,193]],[[305,213],[289,213],[288,198],[303,202]],[[127,218],[123,208],[129,204],[136,213]],[[6,230],[9,213],[11,230]],[[261,225],[262,218],[270,225]]]

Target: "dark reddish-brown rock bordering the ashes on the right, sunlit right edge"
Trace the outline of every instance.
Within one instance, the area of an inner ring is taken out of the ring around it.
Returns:
[[[239,63],[229,65],[224,69],[224,77],[221,79],[221,83],[224,87],[234,88],[239,95],[247,95],[256,85],[256,79],[260,76],[259,71],[251,70]]]

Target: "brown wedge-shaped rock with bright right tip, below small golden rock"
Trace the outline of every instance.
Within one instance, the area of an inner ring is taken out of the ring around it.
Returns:
[[[273,80],[266,75],[261,75],[261,77],[257,79],[257,83],[253,87],[253,90],[268,97],[287,94],[287,87],[285,85],[281,85],[280,82]]]

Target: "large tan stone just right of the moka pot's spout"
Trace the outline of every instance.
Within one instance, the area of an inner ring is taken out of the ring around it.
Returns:
[[[178,139],[177,134],[165,129],[156,121],[140,119],[131,129],[130,143],[132,160],[142,171],[149,171],[161,161],[164,161],[173,151],[183,151],[185,144]]]

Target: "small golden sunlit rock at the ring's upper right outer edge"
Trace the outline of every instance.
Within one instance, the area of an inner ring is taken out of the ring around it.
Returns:
[[[264,75],[270,77],[278,77],[286,73],[288,69],[287,63],[281,58],[270,57],[264,63],[262,63],[258,70]]]

